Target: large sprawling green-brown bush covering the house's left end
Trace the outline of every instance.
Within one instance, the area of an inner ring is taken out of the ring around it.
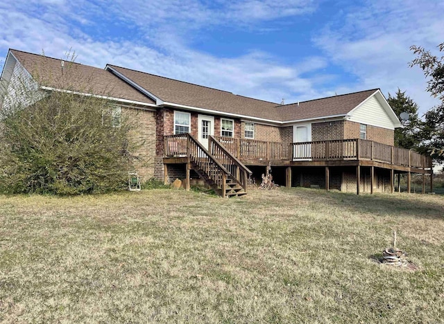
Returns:
[[[93,93],[94,80],[81,80],[65,63],[58,89]],[[75,195],[125,188],[138,145],[130,136],[135,124],[119,107],[101,96],[44,92],[36,84],[45,80],[16,74],[0,89],[0,191]]]

